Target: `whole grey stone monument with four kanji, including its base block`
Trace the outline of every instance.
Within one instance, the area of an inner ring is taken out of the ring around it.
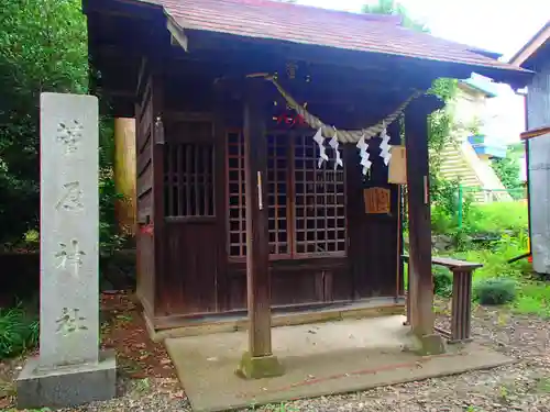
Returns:
[[[114,354],[99,353],[98,101],[41,96],[40,355],[18,379],[20,409],[116,394]]]

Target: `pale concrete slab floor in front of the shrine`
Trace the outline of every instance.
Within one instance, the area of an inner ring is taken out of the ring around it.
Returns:
[[[195,411],[224,411],[395,385],[496,367],[512,359],[469,344],[420,357],[403,316],[348,320],[272,330],[285,368],[276,378],[244,380],[234,371],[246,332],[168,338],[168,353]]]

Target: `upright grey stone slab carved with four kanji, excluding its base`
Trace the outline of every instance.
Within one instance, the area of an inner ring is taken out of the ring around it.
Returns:
[[[43,368],[99,359],[98,141],[97,98],[41,94]]]

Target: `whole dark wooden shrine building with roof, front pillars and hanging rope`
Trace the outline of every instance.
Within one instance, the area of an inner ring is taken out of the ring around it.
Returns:
[[[524,87],[529,71],[395,15],[268,0],[84,11],[103,110],[136,122],[138,293],[152,327],[248,313],[260,358],[271,311],[403,313],[387,144],[404,144],[411,324],[433,333],[427,116],[442,103],[426,91],[472,71]]]

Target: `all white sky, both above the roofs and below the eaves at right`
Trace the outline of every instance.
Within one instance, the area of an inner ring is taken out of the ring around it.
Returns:
[[[298,0],[301,4],[361,11],[376,0]],[[433,35],[503,54],[509,59],[550,19],[550,0],[400,0],[414,19]],[[503,85],[490,99],[490,137],[502,143],[519,140],[525,130],[524,99]]]

